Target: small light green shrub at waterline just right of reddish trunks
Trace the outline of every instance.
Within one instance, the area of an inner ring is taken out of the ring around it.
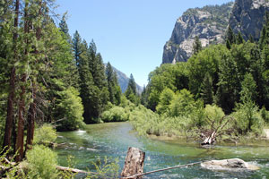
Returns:
[[[56,130],[50,124],[43,124],[35,130],[33,144],[48,144],[56,141]]]

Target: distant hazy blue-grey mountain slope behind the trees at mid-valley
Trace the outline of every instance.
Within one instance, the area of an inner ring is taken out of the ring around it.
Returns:
[[[105,66],[107,66],[107,64],[105,64]],[[126,92],[127,87],[128,87],[129,78],[126,76],[126,74],[124,72],[120,72],[114,66],[112,66],[112,68],[113,68],[113,71],[117,72],[117,81],[118,81],[118,84],[120,86],[121,91],[123,93]],[[135,78],[134,78],[134,80],[135,80]],[[143,88],[136,83],[136,90],[139,94],[141,94],[143,91]]]

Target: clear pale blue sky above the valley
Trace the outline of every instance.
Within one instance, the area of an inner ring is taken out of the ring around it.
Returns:
[[[68,12],[73,36],[78,30],[87,42],[93,39],[105,63],[139,85],[161,64],[163,46],[175,22],[188,8],[223,4],[231,0],[56,0],[56,12]]]

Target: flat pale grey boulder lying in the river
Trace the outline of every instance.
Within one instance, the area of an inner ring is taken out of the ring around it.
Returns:
[[[249,164],[239,158],[230,158],[222,160],[210,160],[201,163],[201,166],[210,170],[230,170],[230,171],[242,171],[242,170],[258,170],[259,167]]]

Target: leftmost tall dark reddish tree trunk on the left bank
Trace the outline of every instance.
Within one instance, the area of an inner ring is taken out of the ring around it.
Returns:
[[[19,24],[19,8],[20,8],[20,0],[16,0],[15,4],[15,18],[14,18],[14,32],[13,32],[13,50],[14,50],[14,60],[17,60],[17,28]],[[16,78],[16,68],[12,67],[10,74],[10,83],[9,83],[9,95],[7,101],[7,115],[5,121],[5,129],[4,129],[4,151],[10,149],[11,146],[11,137],[12,137],[12,129],[13,129],[13,102],[15,97],[15,78]]]

